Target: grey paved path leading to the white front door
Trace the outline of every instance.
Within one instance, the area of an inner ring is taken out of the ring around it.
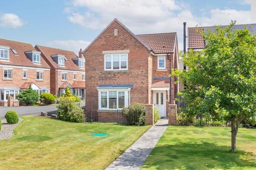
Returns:
[[[167,128],[168,120],[161,119],[111,163],[107,170],[140,169]]]

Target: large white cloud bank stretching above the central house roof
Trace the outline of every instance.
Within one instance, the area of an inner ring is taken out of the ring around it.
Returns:
[[[188,27],[226,25],[231,20],[237,24],[251,22],[250,11],[215,8],[198,16],[188,4],[175,0],[73,0],[72,4],[69,21],[85,28],[103,29],[117,18],[135,34],[178,32],[179,45],[183,43],[183,22],[187,22]]]

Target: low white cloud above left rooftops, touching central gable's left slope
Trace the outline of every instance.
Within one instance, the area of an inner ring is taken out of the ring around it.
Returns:
[[[53,40],[46,43],[46,45],[53,48],[69,50],[78,54],[80,48],[84,50],[90,43],[91,42],[84,40]]]

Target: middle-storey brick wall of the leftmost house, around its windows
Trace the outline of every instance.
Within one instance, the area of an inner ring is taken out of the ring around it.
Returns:
[[[47,87],[50,88],[50,71],[44,70],[43,72],[43,81],[36,80],[36,70],[34,69],[26,69],[27,70],[27,79],[23,79],[22,69],[12,68],[12,80],[4,80],[3,79],[3,68],[0,67],[0,87],[19,87],[21,84],[25,82],[34,82],[38,87]],[[10,69],[7,68],[6,69]]]

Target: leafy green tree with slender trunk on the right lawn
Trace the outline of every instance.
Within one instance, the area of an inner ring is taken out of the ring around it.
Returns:
[[[202,32],[206,49],[190,51],[183,58],[189,71],[173,71],[186,84],[180,92],[187,103],[186,114],[210,115],[231,123],[232,152],[239,124],[256,116],[255,36],[247,29],[233,29],[234,24]]]

